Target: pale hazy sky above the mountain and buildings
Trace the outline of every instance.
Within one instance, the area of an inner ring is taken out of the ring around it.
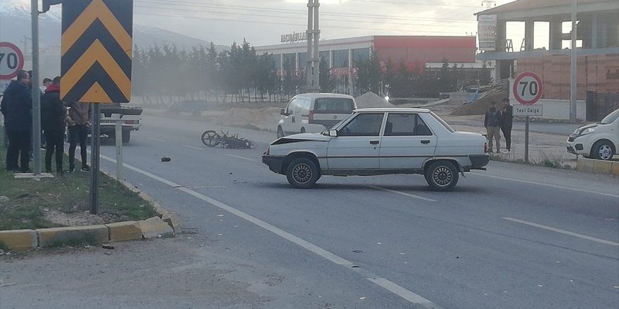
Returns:
[[[497,0],[497,6],[513,0]],[[30,6],[29,0],[0,0]],[[321,0],[322,39],[364,35],[470,35],[482,0]],[[39,1],[40,3],[40,1]],[[215,44],[279,44],[307,29],[307,0],[134,0],[134,23]],[[59,8],[53,8],[58,12]]]

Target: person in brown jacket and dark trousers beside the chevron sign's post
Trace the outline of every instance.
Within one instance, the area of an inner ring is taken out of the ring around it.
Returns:
[[[72,119],[69,126],[69,171],[75,171],[75,147],[79,141],[79,152],[82,155],[82,171],[90,171],[87,164],[86,140],[90,128],[90,103],[71,102],[69,117]]]

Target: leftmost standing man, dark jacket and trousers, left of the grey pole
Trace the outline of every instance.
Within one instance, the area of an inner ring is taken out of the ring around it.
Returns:
[[[16,81],[11,81],[4,91],[0,109],[8,135],[6,170],[30,172],[30,132],[32,131],[32,93],[28,72],[19,71]],[[18,158],[21,167],[18,166]]]

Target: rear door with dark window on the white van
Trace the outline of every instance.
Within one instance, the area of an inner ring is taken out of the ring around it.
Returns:
[[[350,116],[353,110],[355,101],[352,98],[316,98],[314,109],[309,112],[309,123],[331,128]]]

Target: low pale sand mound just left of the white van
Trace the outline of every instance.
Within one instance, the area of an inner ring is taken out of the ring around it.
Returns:
[[[215,124],[274,131],[279,122],[279,108],[232,108],[217,117]]]

